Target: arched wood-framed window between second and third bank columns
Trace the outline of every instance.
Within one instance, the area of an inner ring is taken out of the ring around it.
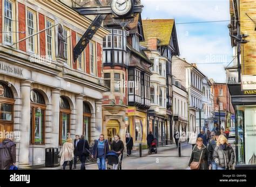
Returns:
[[[63,145],[70,136],[70,104],[65,96],[59,99],[59,145]]]

